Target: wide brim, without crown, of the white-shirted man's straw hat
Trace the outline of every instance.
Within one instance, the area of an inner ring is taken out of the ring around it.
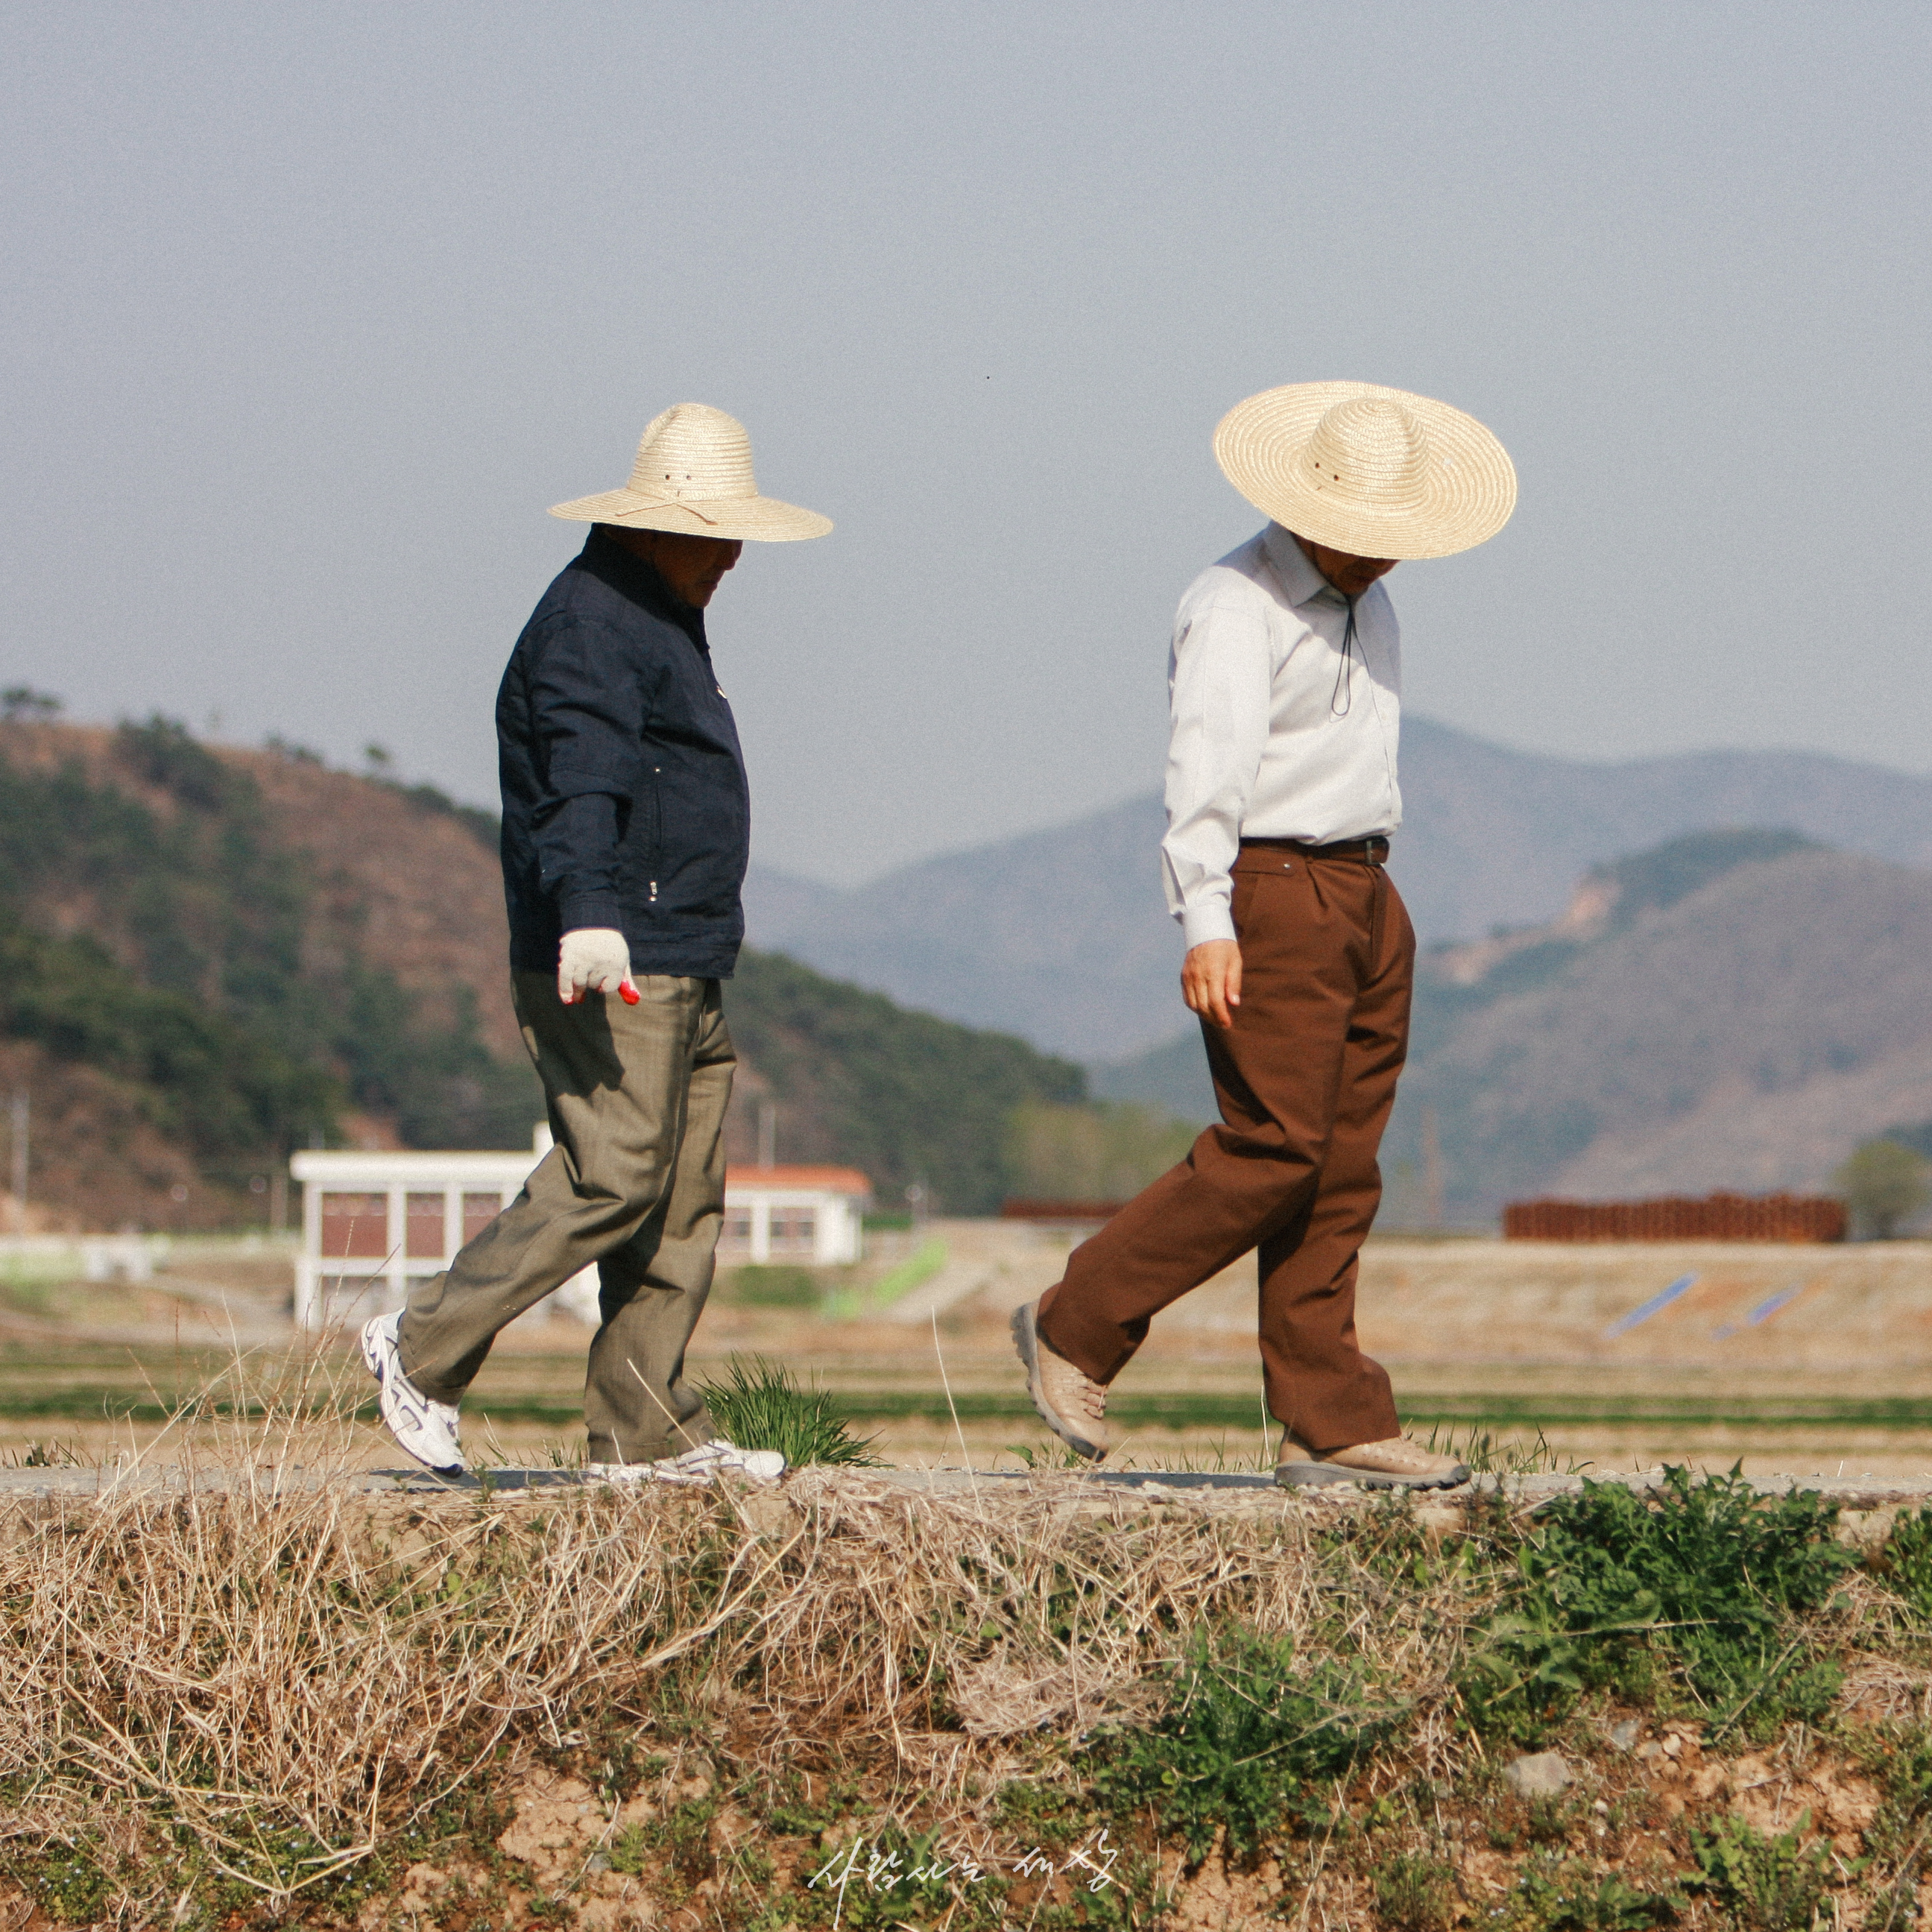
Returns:
[[[1420,423],[1430,466],[1420,504],[1364,512],[1323,497],[1296,466],[1316,423],[1337,402],[1374,396],[1399,402]],[[1221,473],[1285,529],[1350,556],[1397,562],[1455,556],[1486,543],[1517,508],[1517,469],[1497,439],[1461,410],[1432,396],[1378,383],[1287,383],[1236,402],[1213,433]]]

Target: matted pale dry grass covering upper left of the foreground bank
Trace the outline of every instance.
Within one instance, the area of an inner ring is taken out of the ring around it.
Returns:
[[[230,1441],[257,1472],[236,1490],[6,1505],[10,1853],[89,1847],[131,1918],[201,1880],[286,1907],[506,1747],[562,1764],[589,1733],[668,1737],[692,1700],[771,1779],[831,1752],[885,1776],[887,1812],[978,1830],[1007,1741],[1090,1731],[1227,1615],[1443,1690],[1445,1648],[1378,1619],[1360,1565],[1337,1627],[1314,1511],[1209,1520],[1072,1480],[914,1501],[813,1470],[782,1499],[371,1497],[327,1480],[355,1447],[280,1420]],[[1445,1588],[1435,1625],[1480,1607]]]

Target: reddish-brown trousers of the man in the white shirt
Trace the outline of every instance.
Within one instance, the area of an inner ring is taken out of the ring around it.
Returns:
[[[1354,1275],[1416,935],[1381,866],[1244,844],[1233,873],[1240,1007],[1227,1032],[1202,1022],[1221,1124],[1072,1252],[1039,1327],[1113,1381],[1155,1314],[1260,1248],[1269,1412],[1318,1453],[1383,1441],[1401,1426],[1354,1339]]]

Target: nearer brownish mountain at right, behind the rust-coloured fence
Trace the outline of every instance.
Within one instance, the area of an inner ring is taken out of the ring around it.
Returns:
[[[1615,869],[1654,881],[1685,854],[1646,858]],[[1383,1161],[1412,1188],[1432,1115],[1451,1221],[1544,1192],[1818,1188],[1861,1140],[1932,1117],[1926,871],[1745,858],[1594,935],[1551,927],[1472,983],[1455,968],[1443,951],[1418,978]]]

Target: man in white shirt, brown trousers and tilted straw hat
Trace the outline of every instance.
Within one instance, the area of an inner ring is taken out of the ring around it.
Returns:
[[[1250,396],[1215,456],[1271,522],[1180,599],[1161,869],[1221,1122],[1074,1250],[1014,1341],[1039,1414],[1097,1459],[1150,1320],[1258,1248],[1275,1480],[1449,1486],[1468,1470],[1401,1435],[1354,1335],[1416,951],[1383,869],[1401,634],[1379,580],[1492,537],[1515,471],[1472,417],[1370,383]]]

